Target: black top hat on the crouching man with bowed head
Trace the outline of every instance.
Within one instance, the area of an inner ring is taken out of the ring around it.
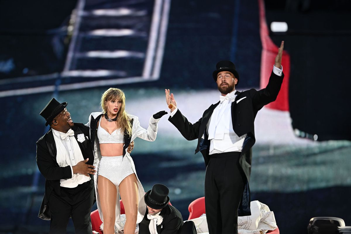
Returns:
[[[168,193],[169,190],[165,185],[157,183],[152,186],[151,190],[145,193],[145,203],[152,209],[162,209],[168,205],[168,202],[170,202]]]

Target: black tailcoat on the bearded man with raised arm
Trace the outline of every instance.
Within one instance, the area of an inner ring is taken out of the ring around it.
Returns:
[[[259,91],[256,89],[250,89],[243,92],[236,92],[236,99],[232,102],[231,116],[233,130],[238,136],[247,134],[243,149],[240,154],[239,163],[243,172],[246,176],[246,184],[244,187],[243,198],[241,199],[239,206],[239,216],[251,215],[250,212],[250,188],[249,180],[251,174],[251,161],[252,161],[252,146],[254,145],[255,133],[254,133],[254,120],[257,112],[266,104],[276,100],[279,93],[280,87],[282,86],[284,74],[278,76],[271,73],[267,86]],[[219,102],[212,104],[196,123],[192,124],[188,122],[186,117],[178,111],[170,117],[168,120],[176,126],[179,132],[187,140],[198,139],[197,148],[195,153],[199,151],[202,153],[205,165],[207,167],[210,159],[210,140],[208,140],[207,134],[207,123],[211,118],[214,108],[218,106]]]

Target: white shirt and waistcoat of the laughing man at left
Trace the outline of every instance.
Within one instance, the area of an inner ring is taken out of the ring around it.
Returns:
[[[52,129],[54,140],[56,143],[57,155],[56,161],[60,167],[71,167],[72,178],[60,180],[60,186],[66,188],[75,188],[78,185],[90,180],[90,176],[83,174],[73,174],[72,166],[77,165],[78,162],[83,161],[84,157],[79,148],[77,140],[74,138],[74,132],[69,129],[67,133],[56,131]]]

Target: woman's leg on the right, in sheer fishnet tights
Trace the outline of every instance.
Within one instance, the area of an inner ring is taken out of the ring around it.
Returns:
[[[138,183],[135,174],[128,175],[119,184],[119,193],[126,212],[124,234],[134,234],[138,215]],[[105,216],[104,216],[105,219]],[[104,230],[105,234],[105,230]]]

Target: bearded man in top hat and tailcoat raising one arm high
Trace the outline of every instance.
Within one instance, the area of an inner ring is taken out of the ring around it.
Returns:
[[[205,159],[205,209],[210,234],[238,233],[238,215],[250,215],[252,146],[255,143],[254,119],[266,104],[276,100],[283,82],[280,45],[266,88],[238,92],[239,73],[231,61],[220,61],[212,76],[221,93],[202,118],[192,124],[181,114],[173,94],[166,89],[171,109],[168,119],[187,139],[198,139],[195,153]]]

